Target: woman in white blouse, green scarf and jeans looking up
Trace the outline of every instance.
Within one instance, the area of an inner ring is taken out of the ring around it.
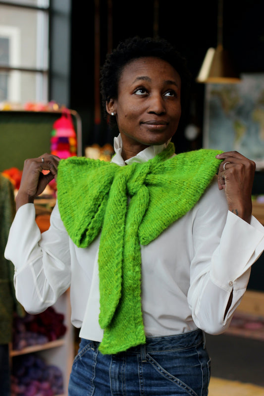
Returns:
[[[81,343],[70,396],[207,395],[204,332],[227,329],[264,249],[255,164],[233,151],[174,154],[188,73],[167,42],[120,43],[101,84],[119,131],[111,163],[25,162],[5,251],[17,297],[37,313],[71,286]],[[33,201],[56,175],[40,235]]]

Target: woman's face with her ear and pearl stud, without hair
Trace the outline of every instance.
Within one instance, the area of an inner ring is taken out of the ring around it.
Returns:
[[[106,104],[107,111],[116,115],[123,147],[139,152],[167,142],[181,116],[180,90],[180,76],[165,60],[141,57],[128,63],[117,99]]]

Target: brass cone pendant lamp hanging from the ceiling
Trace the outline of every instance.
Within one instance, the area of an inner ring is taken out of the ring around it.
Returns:
[[[218,1],[217,15],[217,46],[207,50],[204,62],[196,81],[198,83],[232,84],[241,79],[229,58],[228,52],[223,49],[223,1]]]

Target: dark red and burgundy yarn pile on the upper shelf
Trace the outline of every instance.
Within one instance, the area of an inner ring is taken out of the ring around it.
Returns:
[[[14,316],[13,349],[21,350],[32,345],[41,345],[57,340],[66,332],[63,323],[64,315],[47,308],[37,315],[25,314],[24,317]]]

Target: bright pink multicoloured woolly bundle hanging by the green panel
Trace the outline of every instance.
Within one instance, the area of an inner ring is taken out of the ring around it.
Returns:
[[[59,158],[77,155],[76,133],[69,111],[65,110],[62,116],[53,123],[51,154]]]

